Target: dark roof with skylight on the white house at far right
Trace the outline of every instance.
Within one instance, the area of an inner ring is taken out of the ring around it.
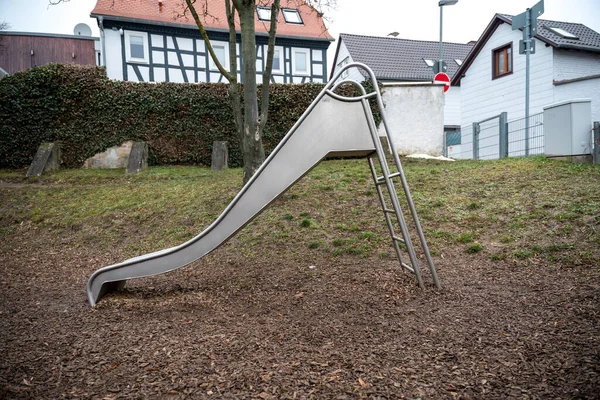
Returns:
[[[490,39],[496,28],[503,23],[512,24],[512,15],[508,14],[496,14],[490,21],[487,28],[481,34],[481,37],[477,41],[477,44],[473,47],[469,55],[466,57],[463,65],[458,69],[454,78],[452,78],[452,86],[460,84],[460,79],[465,74],[469,66],[477,57],[483,46]],[[538,19],[537,34],[534,36],[536,39],[548,44],[549,46],[561,48],[561,49],[575,49],[591,52],[600,52],[600,33],[588,28],[583,24],[577,24],[573,22],[561,22],[561,21],[550,21],[545,19]],[[547,28],[560,28],[579,39],[567,39],[556,33],[552,32]]]

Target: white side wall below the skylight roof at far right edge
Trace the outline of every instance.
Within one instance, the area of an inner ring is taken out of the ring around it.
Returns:
[[[600,74],[600,53],[554,49],[555,81],[598,74]]]

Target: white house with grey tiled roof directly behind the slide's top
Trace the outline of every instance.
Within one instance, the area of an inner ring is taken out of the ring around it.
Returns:
[[[455,75],[473,48],[473,44],[442,43],[443,58],[448,65],[446,73],[450,78]],[[461,89],[460,87],[450,87],[440,97],[437,90],[431,91],[431,88],[426,88],[427,85],[431,85],[435,75],[432,67],[438,58],[439,42],[342,33],[338,41],[330,78],[344,65],[351,62],[368,65],[377,80],[384,85],[384,97],[398,100],[394,103],[394,107],[388,107],[388,112],[394,115],[397,113],[396,109],[406,109],[406,112],[398,111],[398,115],[402,115],[407,124],[401,122],[397,124],[397,129],[403,136],[401,148],[397,148],[397,150],[401,153],[418,151],[439,155],[442,152],[442,134],[440,132],[439,137],[435,135],[433,133],[435,126],[430,123],[437,122],[439,117],[442,120],[443,131],[450,143],[452,144],[454,138],[460,139],[458,132],[460,129]],[[357,69],[348,70],[343,75],[341,78],[357,82],[365,79]],[[426,94],[425,91],[431,93]],[[437,103],[438,97],[442,101],[443,116],[432,113],[433,110],[437,110],[434,104]],[[402,98],[412,104],[410,106],[400,104]],[[389,102],[386,103],[389,104]],[[427,145],[426,142],[433,146]]]

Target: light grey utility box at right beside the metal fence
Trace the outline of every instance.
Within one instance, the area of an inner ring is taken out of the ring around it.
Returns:
[[[544,154],[547,157],[592,153],[592,100],[572,99],[544,107]]]

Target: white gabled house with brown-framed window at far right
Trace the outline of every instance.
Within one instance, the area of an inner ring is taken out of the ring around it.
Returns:
[[[502,112],[508,121],[525,117],[526,57],[519,54],[523,32],[513,30],[511,22],[512,16],[496,14],[452,79],[461,88],[462,148],[456,157],[473,157],[474,122]],[[582,24],[539,19],[534,41],[530,115],[554,103],[589,98],[592,120],[600,120],[600,34]],[[543,124],[536,121],[530,125]],[[498,158],[498,141],[490,143],[487,158]]]

